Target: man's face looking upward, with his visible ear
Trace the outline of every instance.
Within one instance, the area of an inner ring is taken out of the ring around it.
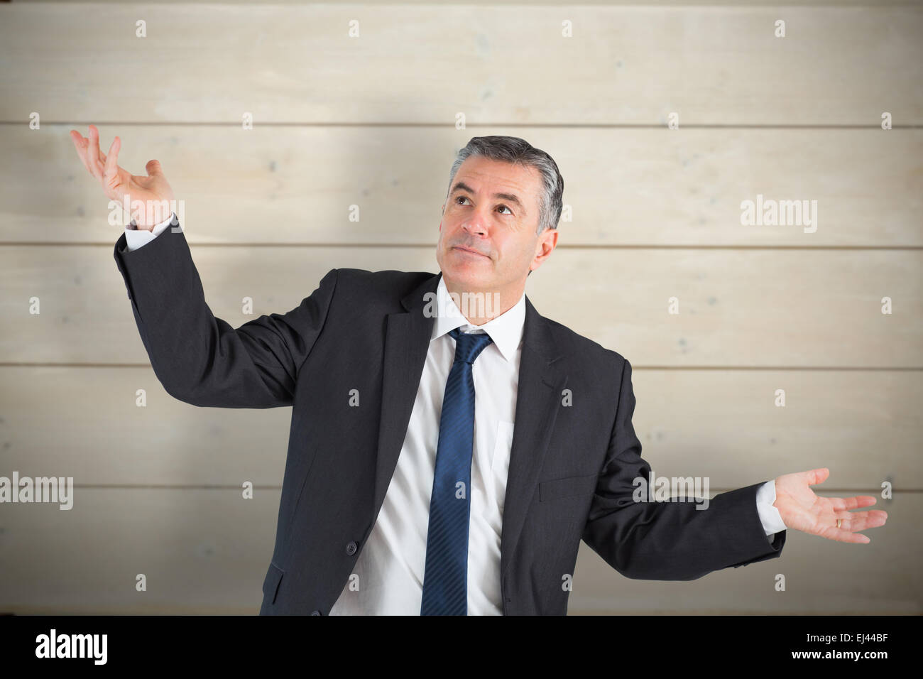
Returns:
[[[513,296],[557,244],[557,229],[538,236],[541,177],[532,167],[472,156],[462,163],[442,206],[436,259],[450,290]],[[503,299],[504,303],[508,300]]]

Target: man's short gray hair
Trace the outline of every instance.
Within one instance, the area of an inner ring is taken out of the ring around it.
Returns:
[[[455,162],[452,164],[449,173],[449,190],[446,191],[446,197],[449,196],[452,189],[455,174],[459,171],[462,163],[471,156],[481,156],[495,161],[519,164],[536,169],[539,176],[541,176],[543,189],[538,201],[538,229],[536,234],[541,234],[548,228],[557,229],[557,222],[561,218],[563,208],[561,197],[564,194],[564,177],[558,172],[554,158],[519,137],[501,137],[497,135],[472,137],[455,157]]]

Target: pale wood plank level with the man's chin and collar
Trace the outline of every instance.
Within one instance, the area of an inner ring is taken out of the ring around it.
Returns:
[[[438,270],[435,248],[192,251],[234,327],[294,309],[331,268]],[[8,246],[0,282],[4,362],[148,362],[111,247]],[[923,366],[921,250],[562,249],[528,283],[540,313],[641,366]]]

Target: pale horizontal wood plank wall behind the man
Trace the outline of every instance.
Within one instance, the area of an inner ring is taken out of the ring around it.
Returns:
[[[583,545],[569,612],[923,612],[923,8],[671,5],[0,6],[0,475],[78,484],[69,512],[0,505],[0,611],[253,613],[271,555],[291,410],[163,392],[67,135],[94,123],[132,171],[161,160],[234,326],[242,297],[292,309],[333,267],[437,271],[454,152],[529,139],[573,220],[527,293],[629,358],[658,475],[896,489],[869,545],[790,531],[781,559],[691,582]],[[757,193],[818,200],[817,233],[741,226]]]

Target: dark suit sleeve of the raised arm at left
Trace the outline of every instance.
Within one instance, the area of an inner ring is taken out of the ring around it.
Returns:
[[[323,331],[337,284],[331,269],[318,288],[284,314],[239,328],[205,302],[186,236],[167,229],[143,248],[115,243],[138,333],[167,394],[193,406],[291,406],[298,370]]]

